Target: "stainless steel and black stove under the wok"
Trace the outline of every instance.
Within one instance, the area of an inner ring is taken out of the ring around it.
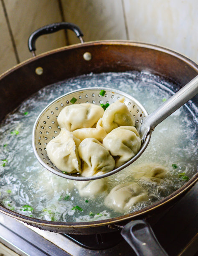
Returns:
[[[198,252],[198,183],[152,229],[170,256],[194,256]],[[155,223],[155,224],[153,224]],[[98,235],[67,235],[26,225],[0,213],[0,255],[16,256],[133,256],[119,231]]]

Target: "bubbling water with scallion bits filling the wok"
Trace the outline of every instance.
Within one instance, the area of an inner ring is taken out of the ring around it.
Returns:
[[[126,92],[139,100],[151,113],[168,99],[172,84],[159,77],[139,72],[89,74],[49,85],[25,100],[0,125],[0,202],[10,210],[34,218],[79,222],[123,215],[104,205],[107,192],[98,197],[80,197],[73,181],[58,177],[37,162],[32,146],[33,123],[43,108],[55,98],[84,87],[110,87]],[[183,106],[155,128],[146,151],[135,163],[105,178],[109,190],[132,180],[130,171],[142,163],[158,163],[169,169],[160,184],[138,180],[149,194],[147,202],[137,203],[130,212],[161,200],[179,187],[197,170],[197,123],[190,110]],[[173,165],[173,166],[172,166]],[[174,169],[175,168],[175,169]],[[79,209],[72,210],[79,206]]]

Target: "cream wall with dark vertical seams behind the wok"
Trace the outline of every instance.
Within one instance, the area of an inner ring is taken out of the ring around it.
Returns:
[[[29,59],[30,34],[76,23],[85,41],[124,39],[166,46],[198,61],[198,0],[0,0],[0,74]],[[36,53],[79,43],[63,31],[37,40]]]

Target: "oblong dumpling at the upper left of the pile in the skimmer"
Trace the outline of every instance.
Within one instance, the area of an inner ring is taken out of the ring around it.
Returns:
[[[58,115],[57,121],[61,128],[74,131],[79,128],[92,127],[102,118],[104,109],[91,103],[69,105]]]

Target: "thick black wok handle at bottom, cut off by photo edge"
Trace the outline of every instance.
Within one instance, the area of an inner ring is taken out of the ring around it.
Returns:
[[[134,220],[122,228],[121,235],[137,256],[168,256],[157,241],[150,225],[144,220]]]

